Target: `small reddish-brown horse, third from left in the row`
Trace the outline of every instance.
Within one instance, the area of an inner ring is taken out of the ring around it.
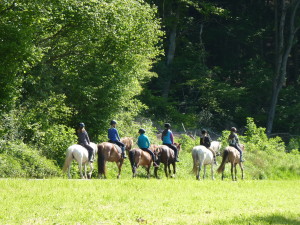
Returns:
[[[129,151],[129,160],[132,168],[132,177],[136,177],[136,170],[139,166],[145,166],[147,177],[150,178],[150,167],[152,157],[148,152],[139,148],[134,148]]]

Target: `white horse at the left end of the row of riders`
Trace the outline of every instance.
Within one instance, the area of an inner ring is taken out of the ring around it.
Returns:
[[[98,151],[98,147],[95,143],[90,142],[90,146],[93,148],[93,156],[95,157],[97,151]],[[69,179],[71,178],[70,175],[70,170],[71,170],[71,165],[72,165],[72,161],[73,159],[75,159],[78,163],[78,168],[80,171],[80,177],[81,178],[91,178],[92,177],[92,172],[93,172],[93,163],[90,163],[88,160],[88,150],[86,148],[84,148],[81,145],[75,144],[75,145],[71,145],[66,152],[66,160],[65,160],[65,164],[63,167],[63,171],[66,172],[68,169],[68,177]],[[90,172],[88,173],[88,176],[86,174],[86,165],[89,164],[90,165]],[[82,165],[84,166],[84,176],[82,174]]]

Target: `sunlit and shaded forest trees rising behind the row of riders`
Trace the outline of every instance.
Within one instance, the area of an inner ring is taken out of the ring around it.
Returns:
[[[299,6],[1,1],[1,176],[43,176],[36,168],[57,175],[79,122],[101,142],[112,119],[133,137],[141,127],[155,137],[165,122],[214,138],[232,126],[244,135],[252,124],[263,140],[279,138],[284,151],[299,153]]]

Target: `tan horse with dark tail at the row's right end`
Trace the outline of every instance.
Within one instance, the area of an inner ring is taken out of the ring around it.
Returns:
[[[241,146],[241,149],[242,151],[244,151],[244,145],[240,145]],[[219,166],[218,168],[218,173],[222,173],[222,180],[224,179],[224,170],[225,170],[225,164],[227,162],[230,162],[231,163],[231,177],[232,177],[232,180],[237,180],[236,178],[236,165],[239,164],[240,165],[240,168],[241,168],[241,171],[242,171],[242,179],[244,179],[244,168],[243,168],[243,164],[242,162],[240,161],[240,153],[239,151],[234,148],[234,147],[231,147],[231,146],[227,146],[223,152],[223,159],[222,159],[222,163],[221,165]],[[234,168],[234,172],[235,172],[235,175],[233,176],[233,168]]]

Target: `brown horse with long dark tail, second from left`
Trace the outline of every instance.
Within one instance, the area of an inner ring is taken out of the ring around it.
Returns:
[[[106,161],[116,162],[119,173],[117,178],[120,178],[122,165],[124,159],[121,157],[121,149],[115,144],[109,142],[103,142],[98,145],[98,175],[102,178],[102,175],[106,179]]]

